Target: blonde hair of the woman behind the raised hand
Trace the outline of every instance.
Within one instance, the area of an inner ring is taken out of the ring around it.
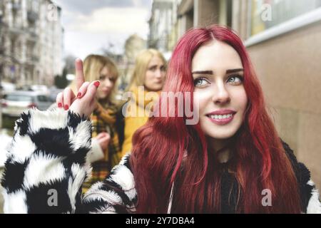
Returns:
[[[104,67],[108,68],[108,71],[112,77],[112,81],[114,82],[113,89],[107,96],[106,101],[108,100],[111,103],[116,103],[115,95],[117,93],[118,69],[116,64],[113,63],[110,58],[99,55],[87,56],[83,61],[83,76],[85,77],[85,81],[97,81],[99,80],[101,70],[103,70]],[[76,92],[75,81],[71,83],[70,87],[74,92]]]

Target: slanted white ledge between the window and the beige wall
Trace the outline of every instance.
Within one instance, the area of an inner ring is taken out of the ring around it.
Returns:
[[[248,38],[244,42],[244,45],[246,47],[253,46],[256,43],[266,41],[266,40],[273,38],[275,36],[280,36],[283,33],[293,31],[293,30],[300,28],[302,26],[307,26],[307,25],[312,24],[316,21],[321,21],[321,7],[315,9],[314,11],[310,11],[307,14],[297,16],[294,19],[290,19],[289,21],[285,21],[281,24],[273,26],[272,28],[268,28],[267,30],[265,30],[261,33],[258,33],[257,35],[251,36],[250,38]]]

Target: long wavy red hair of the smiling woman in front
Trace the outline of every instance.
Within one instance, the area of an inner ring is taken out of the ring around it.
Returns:
[[[233,167],[239,186],[235,212],[300,213],[295,172],[267,113],[250,57],[233,31],[210,26],[185,33],[173,51],[163,91],[193,93],[192,58],[200,46],[213,40],[227,43],[238,52],[248,96],[245,120],[233,145]],[[170,108],[178,113],[177,107]],[[208,152],[199,123],[186,125],[185,120],[185,117],[152,117],[133,136],[131,167],[138,193],[138,213],[167,212],[173,183],[171,212],[221,212],[219,163]],[[264,189],[272,192],[272,206],[262,204]]]

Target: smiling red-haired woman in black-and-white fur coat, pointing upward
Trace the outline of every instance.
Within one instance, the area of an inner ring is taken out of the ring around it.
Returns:
[[[230,29],[193,28],[173,51],[163,93],[191,94],[197,124],[177,115],[188,97],[163,109],[162,95],[133,136],[131,155],[84,196],[91,136],[80,116],[93,110],[96,87],[81,86],[81,63],[76,68],[83,97],[57,100],[72,103],[68,112],[31,110],[16,123],[2,181],[5,212],[321,213],[310,172],[277,135],[248,53]],[[57,207],[47,203],[52,189]]]

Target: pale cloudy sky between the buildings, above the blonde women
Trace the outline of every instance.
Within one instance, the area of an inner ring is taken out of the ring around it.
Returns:
[[[148,36],[152,0],[54,0],[62,9],[65,55],[85,58],[113,43],[121,53],[126,38]]]

